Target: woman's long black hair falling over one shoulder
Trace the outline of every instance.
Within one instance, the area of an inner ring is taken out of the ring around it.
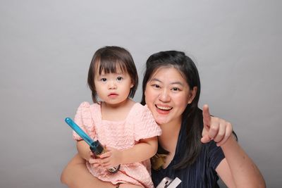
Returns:
[[[141,104],[145,105],[145,89],[146,84],[151,79],[152,75],[159,68],[173,67],[179,70],[180,74],[185,77],[190,89],[197,87],[197,93],[191,104],[186,106],[183,113],[183,122],[187,123],[187,137],[185,154],[180,163],[176,164],[174,168],[185,168],[194,163],[201,152],[202,143],[202,111],[198,108],[200,99],[200,77],[195,63],[191,58],[181,51],[160,51],[157,54],[149,56],[146,63],[145,75],[142,83],[142,101]]]

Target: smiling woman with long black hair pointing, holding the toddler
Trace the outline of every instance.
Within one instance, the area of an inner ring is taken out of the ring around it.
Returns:
[[[179,177],[178,187],[218,187],[219,177],[228,187],[265,187],[259,169],[231,135],[232,125],[209,115],[207,105],[198,108],[200,78],[192,60],[180,51],[161,51],[146,65],[142,104],[162,129],[158,155],[166,156],[152,170],[155,186],[167,176]],[[61,180],[69,187],[115,187],[92,177],[79,156]]]

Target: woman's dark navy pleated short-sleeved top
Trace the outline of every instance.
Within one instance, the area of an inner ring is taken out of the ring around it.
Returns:
[[[221,147],[216,146],[214,141],[207,144],[202,144],[202,150],[195,163],[188,166],[188,168],[174,170],[173,165],[180,162],[185,151],[185,137],[186,137],[186,126],[185,123],[181,125],[180,133],[178,136],[178,142],[176,146],[176,154],[173,160],[167,168],[160,170],[152,169],[152,180],[154,186],[157,187],[159,182],[164,177],[174,179],[178,177],[182,182],[177,188],[188,188],[188,187],[219,187],[217,180],[219,180],[216,174],[216,167],[223,160],[224,154]]]

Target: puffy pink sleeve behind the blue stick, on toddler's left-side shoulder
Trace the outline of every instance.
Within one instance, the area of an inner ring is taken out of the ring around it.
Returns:
[[[88,136],[94,138],[94,122],[91,117],[90,104],[88,102],[82,102],[82,104],[80,104],[75,114],[74,121]],[[73,139],[81,140],[82,138],[73,131]]]

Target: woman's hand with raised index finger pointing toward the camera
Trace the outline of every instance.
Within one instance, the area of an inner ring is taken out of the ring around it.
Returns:
[[[202,143],[207,143],[211,140],[216,142],[216,146],[221,146],[232,134],[231,123],[221,118],[212,117],[209,114],[209,106],[205,104],[202,109],[204,128],[202,130]]]

